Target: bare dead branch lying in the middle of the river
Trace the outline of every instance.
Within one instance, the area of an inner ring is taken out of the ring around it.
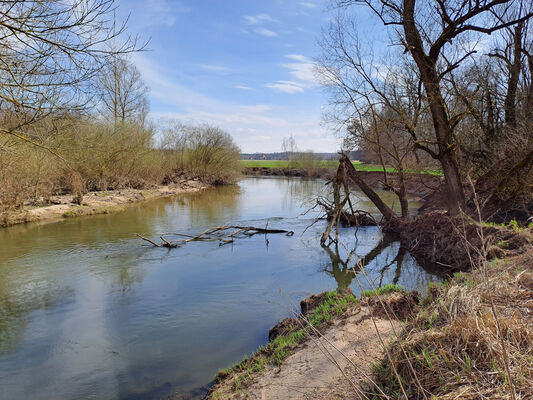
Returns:
[[[186,235],[183,233],[166,233],[164,235],[159,236],[159,238],[161,239],[160,243],[154,242],[153,240],[139,235],[138,233],[137,236],[155,247],[167,247],[169,249],[173,249],[176,247],[184,246],[190,242],[198,242],[203,240],[218,241],[219,246],[223,246],[225,244],[233,243],[234,240],[239,237],[251,237],[257,235],[258,233],[265,235],[268,233],[284,233],[285,236],[294,235],[293,231],[287,231],[284,229],[267,229],[256,228],[254,226],[223,225],[209,228],[199,233],[198,235]],[[165,236],[180,236],[183,239],[167,240]]]

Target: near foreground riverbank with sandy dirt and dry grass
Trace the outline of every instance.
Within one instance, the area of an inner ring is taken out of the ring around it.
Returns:
[[[533,398],[533,249],[456,273],[425,300],[367,293],[312,331],[278,363],[265,361],[271,342],[222,371],[206,398]]]

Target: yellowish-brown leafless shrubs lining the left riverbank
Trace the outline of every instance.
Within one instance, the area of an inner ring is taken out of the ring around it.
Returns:
[[[134,123],[45,120],[28,127],[27,136],[48,150],[0,136],[0,226],[28,207],[49,205],[54,195],[74,194],[82,204],[87,191],[150,189],[184,173],[225,184],[240,174],[237,147],[212,127],[188,132],[186,148],[164,150],[151,129]]]

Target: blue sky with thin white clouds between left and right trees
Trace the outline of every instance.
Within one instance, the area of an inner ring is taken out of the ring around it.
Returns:
[[[210,123],[242,152],[335,152],[322,123],[327,95],[313,59],[330,18],[328,0],[119,0],[119,16],[149,39],[133,61],[150,86],[156,124]]]

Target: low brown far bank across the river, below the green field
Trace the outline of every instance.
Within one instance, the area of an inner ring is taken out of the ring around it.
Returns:
[[[330,180],[337,170],[335,168],[264,168],[248,167],[244,169],[244,174],[248,176],[295,176],[305,178],[316,178]],[[374,189],[384,189],[383,173],[379,171],[358,171],[365,182]],[[391,180],[394,180],[394,174],[389,174]],[[416,196],[422,199],[439,197],[439,188],[444,183],[441,176],[430,174],[408,174],[406,181],[406,190],[409,196]],[[437,193],[437,194],[435,194]],[[435,201],[432,201],[432,204]]]

